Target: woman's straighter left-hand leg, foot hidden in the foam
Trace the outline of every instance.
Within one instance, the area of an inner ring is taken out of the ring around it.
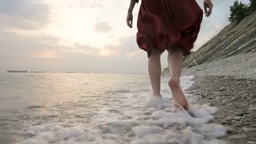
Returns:
[[[161,52],[152,50],[148,61],[149,78],[152,85],[153,93],[160,96],[160,79],[161,79]]]

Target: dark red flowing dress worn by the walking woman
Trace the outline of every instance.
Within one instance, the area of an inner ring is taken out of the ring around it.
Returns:
[[[186,56],[197,39],[202,19],[203,11],[195,0],[141,0],[136,35],[139,48],[149,57],[150,48],[163,52],[179,44]]]

